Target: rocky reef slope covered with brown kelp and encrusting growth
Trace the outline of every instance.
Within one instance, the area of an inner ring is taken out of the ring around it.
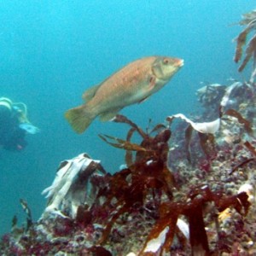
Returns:
[[[241,21],[235,61],[253,17]],[[255,255],[256,84],[207,84],[196,94],[201,113],[150,120],[146,131],[116,115],[127,136],[99,137],[125,151],[125,165],[110,174],[85,153],[61,162],[41,218],[20,201],[26,224],[13,219],[1,255]]]

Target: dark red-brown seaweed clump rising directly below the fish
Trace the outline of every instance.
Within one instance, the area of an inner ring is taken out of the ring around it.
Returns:
[[[169,200],[172,200],[172,189],[174,188],[174,178],[166,166],[168,153],[168,140],[171,137],[171,131],[166,129],[165,125],[156,125],[152,131],[144,132],[124,116],[118,115],[118,122],[131,125],[128,131],[127,141],[115,137],[100,136],[103,141],[116,148],[124,148],[126,154],[131,150],[136,152],[135,160],[127,161],[127,168],[116,172],[108,178],[108,183],[99,189],[97,200],[105,198],[102,207],[109,210],[109,206],[117,209],[110,214],[108,224],[103,231],[100,244],[104,243],[116,220],[125,212],[132,212],[136,205],[143,206],[148,195],[154,198],[155,206],[160,204],[160,195],[164,193]],[[143,141],[140,145],[131,143],[131,135],[137,131]],[[159,131],[155,136],[152,133]],[[116,143],[108,142],[112,139]],[[113,204],[113,199],[116,203]],[[93,206],[92,208],[96,208]]]

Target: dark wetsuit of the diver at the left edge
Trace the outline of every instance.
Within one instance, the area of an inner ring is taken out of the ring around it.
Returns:
[[[20,122],[15,109],[0,105],[0,147],[19,151],[26,147],[26,131],[19,127]]]

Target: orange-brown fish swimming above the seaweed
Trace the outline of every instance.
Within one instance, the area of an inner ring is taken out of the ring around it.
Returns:
[[[85,103],[67,110],[65,118],[81,134],[96,117],[108,121],[122,108],[147,100],[181,67],[183,59],[176,57],[148,56],[132,61],[101,84],[85,90],[82,96]]]

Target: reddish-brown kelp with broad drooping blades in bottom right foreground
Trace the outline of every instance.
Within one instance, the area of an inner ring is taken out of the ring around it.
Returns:
[[[233,207],[240,214],[246,215],[250,206],[247,198],[248,195],[245,192],[226,196],[218,192],[212,192],[207,186],[202,186],[191,189],[187,200],[161,203],[160,218],[150,231],[139,255],[167,253],[177,232],[177,219],[181,215],[187,218],[189,223],[189,242],[192,255],[208,255],[210,249],[203,210],[207,203],[213,203],[215,207],[213,211],[223,212],[225,209]]]

